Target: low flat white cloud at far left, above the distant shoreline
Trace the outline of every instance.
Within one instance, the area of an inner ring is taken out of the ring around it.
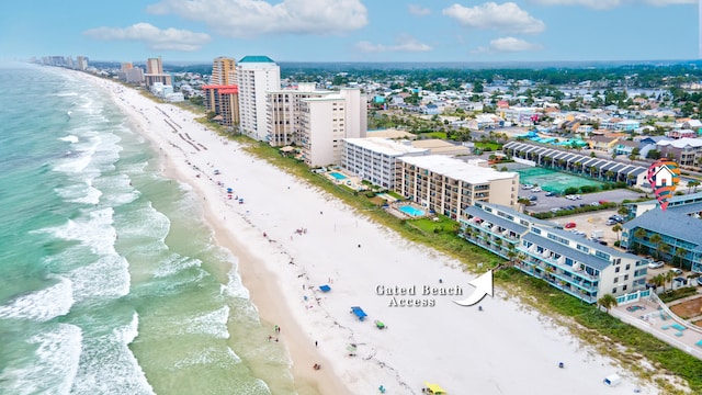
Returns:
[[[83,32],[84,35],[102,41],[138,41],[151,49],[197,50],[210,42],[210,35],[185,30],[161,30],[149,23],[136,23],[128,27],[97,27]]]

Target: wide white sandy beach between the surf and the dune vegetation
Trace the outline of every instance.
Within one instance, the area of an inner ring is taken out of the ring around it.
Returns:
[[[449,394],[658,393],[503,291],[486,297],[483,311],[458,306],[453,301],[474,291],[475,274],[457,261],[251,157],[193,114],[81,76],[106,89],[154,143],[165,173],[202,198],[261,317],[281,328],[299,394],[377,394],[380,386],[421,394],[423,382]],[[322,284],[331,291],[321,292]],[[351,306],[367,317],[359,320]],[[622,383],[607,387],[610,374]]]

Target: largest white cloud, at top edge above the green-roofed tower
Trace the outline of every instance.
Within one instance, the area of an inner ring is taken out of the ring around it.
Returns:
[[[367,24],[361,0],[161,0],[154,14],[177,14],[233,37],[259,34],[339,34]]]

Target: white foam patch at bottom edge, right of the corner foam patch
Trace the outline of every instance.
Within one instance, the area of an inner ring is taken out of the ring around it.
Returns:
[[[138,315],[111,332],[86,337],[80,369],[71,394],[154,394],[151,385],[128,348],[138,331]]]

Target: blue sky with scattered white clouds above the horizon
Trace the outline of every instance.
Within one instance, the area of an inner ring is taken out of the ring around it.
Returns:
[[[691,60],[699,15],[698,0],[13,0],[0,59]]]

